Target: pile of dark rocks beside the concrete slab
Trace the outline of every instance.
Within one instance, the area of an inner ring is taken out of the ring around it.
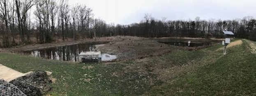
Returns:
[[[10,81],[27,96],[42,96],[51,91],[51,87],[47,85],[50,82],[51,80],[47,77],[45,71],[36,71]]]

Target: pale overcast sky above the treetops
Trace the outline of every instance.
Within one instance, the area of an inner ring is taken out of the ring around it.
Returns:
[[[235,19],[256,16],[256,0],[69,0],[86,4],[106,23],[139,23],[145,13],[161,20]]]

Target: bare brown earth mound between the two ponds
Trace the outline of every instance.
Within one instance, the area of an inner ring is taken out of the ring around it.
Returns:
[[[170,53],[171,48],[158,43],[152,39],[141,37],[118,37],[122,41],[99,46],[102,53],[117,55],[118,60],[122,59],[142,59],[150,56],[159,56],[164,53]]]

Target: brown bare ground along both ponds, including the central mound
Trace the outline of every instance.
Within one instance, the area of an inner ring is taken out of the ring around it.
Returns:
[[[53,43],[44,43],[44,44],[31,44],[31,45],[24,45],[24,46],[13,47],[13,48],[3,48],[2,52],[19,54],[23,51],[71,46],[71,45],[76,45],[81,43],[94,43],[95,45],[104,44],[101,46],[97,46],[97,50],[101,51],[101,53],[116,55],[117,59],[115,61],[120,61],[120,60],[142,59],[145,57],[159,56],[159,55],[164,55],[166,53],[171,53],[174,50],[181,49],[181,47],[178,47],[178,46],[170,46],[168,44],[158,42],[158,41],[166,41],[166,40],[214,41],[214,42],[221,41],[216,39],[198,39],[198,38],[155,39],[155,38],[143,38],[143,37],[118,36],[118,37],[97,38],[96,41],[95,39],[85,39],[80,41],[62,41],[62,42],[53,42]]]

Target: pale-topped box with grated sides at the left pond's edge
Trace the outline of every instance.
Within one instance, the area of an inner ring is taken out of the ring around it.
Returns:
[[[82,52],[79,54],[79,62],[101,63],[101,52]]]

